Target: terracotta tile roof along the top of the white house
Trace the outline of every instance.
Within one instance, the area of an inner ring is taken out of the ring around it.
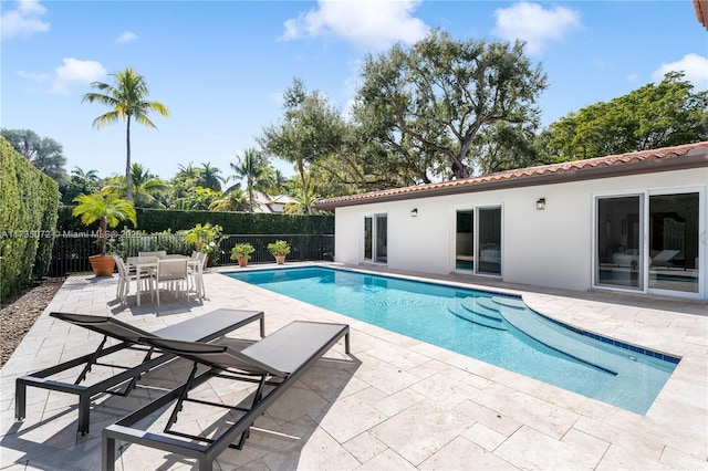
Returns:
[[[691,153],[694,149],[699,149]],[[702,150],[702,151],[701,151]],[[698,155],[697,158],[680,159]],[[708,142],[642,150],[585,160],[519,168],[460,180],[392,188],[317,201],[317,208],[364,205],[369,202],[421,198],[426,196],[473,192],[498,188],[524,187],[585,180],[602,177],[708,166]]]

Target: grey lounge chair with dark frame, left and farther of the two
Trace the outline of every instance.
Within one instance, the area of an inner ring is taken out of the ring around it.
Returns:
[[[157,336],[162,338],[211,342],[254,321],[260,321],[260,335],[261,337],[266,336],[263,312],[258,311],[217,310],[153,333],[108,316],[58,312],[50,313],[50,316],[96,332],[103,335],[103,339],[96,350],[91,354],[18,378],[15,380],[14,416],[17,420],[25,418],[28,387],[73,394],[79,397],[77,432],[82,436],[88,433],[90,430],[91,402],[94,396],[100,394],[127,396],[135,388],[143,374],[175,358],[173,354],[156,352],[154,346],[142,344],[142,338]],[[108,337],[116,338],[121,343],[105,348]],[[131,366],[101,363],[101,358],[123,349],[145,352],[145,356],[142,363]],[[84,368],[73,384],[48,379],[53,375],[81,365],[84,365]],[[121,368],[124,371],[94,384],[83,384],[87,374],[96,366]],[[122,385],[125,385],[123,390],[121,390]]]

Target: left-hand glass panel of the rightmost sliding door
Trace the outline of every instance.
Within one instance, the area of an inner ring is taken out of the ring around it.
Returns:
[[[597,199],[595,284],[643,289],[642,200],[639,195]]]

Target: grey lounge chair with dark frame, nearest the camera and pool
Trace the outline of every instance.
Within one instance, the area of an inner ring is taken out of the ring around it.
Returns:
[[[253,422],[342,337],[345,353],[350,354],[350,326],[321,322],[292,322],[242,350],[215,343],[143,339],[148,345],[192,362],[192,369],[184,385],[103,429],[102,469],[115,469],[115,442],[118,440],[123,447],[125,442],[136,443],[197,459],[199,470],[211,470],[214,460],[223,450],[243,447]],[[204,366],[208,369],[205,370]],[[189,397],[190,390],[212,377],[256,384],[256,390],[235,406]],[[144,418],[173,402],[163,433],[144,430]],[[225,427],[223,431],[217,437],[209,433],[207,438],[175,430],[178,414],[186,402],[228,409],[231,414],[227,423],[219,425],[219,428],[221,425]]]

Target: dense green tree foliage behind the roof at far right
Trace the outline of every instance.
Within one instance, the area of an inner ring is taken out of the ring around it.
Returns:
[[[694,93],[683,76],[570,113],[549,126],[546,151],[579,160],[707,140],[708,91]]]

